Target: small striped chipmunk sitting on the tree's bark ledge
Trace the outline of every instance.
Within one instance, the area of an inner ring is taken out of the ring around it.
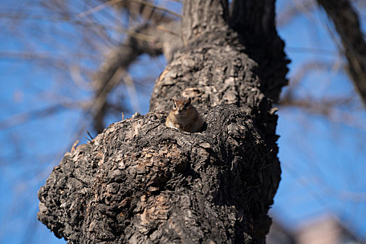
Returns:
[[[191,105],[191,98],[173,98],[173,108],[166,118],[166,126],[185,132],[200,132],[203,118],[196,107]]]

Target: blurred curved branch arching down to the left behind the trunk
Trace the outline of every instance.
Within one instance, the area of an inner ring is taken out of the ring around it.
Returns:
[[[165,26],[165,28],[157,29],[155,24],[144,24],[139,29],[136,29],[134,32],[150,36],[154,41],[130,36],[119,47],[115,47],[108,52],[104,63],[101,64],[98,72],[92,78],[95,91],[92,114],[96,132],[100,133],[105,128],[104,119],[107,98],[110,92],[121,84],[122,76],[118,75],[118,73],[124,73],[124,70],[129,68],[131,63],[136,61],[141,54],[157,56],[164,52],[167,60],[170,61],[177,47],[181,45],[180,36],[175,36],[171,32],[165,31],[166,29],[177,27],[174,21],[161,22],[161,26]]]

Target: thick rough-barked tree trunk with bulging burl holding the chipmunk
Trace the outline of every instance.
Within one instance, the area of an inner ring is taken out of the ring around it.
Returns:
[[[264,243],[281,169],[276,108],[286,84],[274,0],[184,1],[184,47],[150,111],[66,153],[39,190],[38,219],[70,243]],[[164,121],[191,96],[203,132]],[[165,110],[165,111],[164,111]]]

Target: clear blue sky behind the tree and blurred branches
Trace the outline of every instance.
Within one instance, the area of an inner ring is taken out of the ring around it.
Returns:
[[[20,5],[24,6],[28,2],[20,1]],[[11,1],[5,1],[4,4],[4,10],[19,8]],[[288,6],[288,1],[277,2],[278,9],[284,6]],[[15,10],[13,12],[16,13]],[[365,26],[366,16],[360,16]],[[341,107],[339,114],[332,114],[331,120],[304,109],[280,108],[277,134],[280,135],[279,158],[283,173],[271,215],[289,229],[295,230],[320,215],[332,214],[358,236],[366,238],[366,223],[363,221],[366,219],[366,181],[363,181],[363,172],[366,171],[366,114],[351,82],[339,68],[344,60],[337,55],[337,47],[327,25],[332,29],[322,11],[305,11],[288,24],[279,26],[279,34],[286,42],[286,53],[292,61],[288,77],[296,75],[306,62],[326,61],[332,64],[332,70],[317,69],[307,73],[295,90],[295,95],[318,100],[349,95],[355,97],[356,101],[353,102],[352,110],[346,111],[349,117],[344,117]],[[62,45],[53,45],[52,40],[40,44],[40,30],[27,32],[26,27],[34,26],[37,26],[36,22],[30,21],[26,26],[20,26],[19,30],[18,26],[9,25],[4,18],[0,19],[0,125],[1,121],[9,121],[9,118],[11,123],[27,119],[17,114],[57,105],[58,100],[50,98],[59,96],[62,101],[68,101],[73,98],[86,100],[90,96],[89,91],[76,91],[72,82],[69,82],[70,70],[56,75],[45,63],[32,59],[24,61],[3,54],[36,48],[45,53],[52,50],[67,61],[72,61],[68,52],[87,53],[87,49],[78,49],[81,40],[69,24],[41,22],[41,26],[45,27],[41,33],[62,29],[71,36],[62,40]],[[24,45],[22,38],[14,36],[16,31],[22,31],[21,28],[24,28],[29,38],[27,45]],[[115,38],[119,38],[118,35]],[[96,57],[88,61],[88,55]],[[100,57],[95,52],[87,53],[87,57],[80,57],[78,62],[93,70]],[[151,59],[142,56],[129,71],[133,79],[153,81],[164,66],[161,57]],[[54,82],[58,79],[61,81]],[[126,91],[122,90],[115,91],[112,99],[119,99],[121,94],[128,98]],[[139,112],[142,114],[148,111],[151,91],[152,84],[149,84],[143,92],[138,93]],[[131,113],[125,116],[133,114],[133,107],[128,107]],[[84,114],[78,109],[59,108],[57,111],[52,116],[0,128],[0,147],[3,149],[0,152],[0,190],[3,193],[0,199],[0,243],[65,243],[36,220],[36,192],[45,183],[52,167],[70,150],[72,142],[78,139],[75,138],[78,132],[75,124],[85,123]],[[346,123],[342,120],[344,118],[347,119]],[[115,114],[108,118],[108,122],[118,119],[120,114]],[[85,123],[85,127],[92,131],[89,123]],[[84,135],[79,139],[85,143]]]

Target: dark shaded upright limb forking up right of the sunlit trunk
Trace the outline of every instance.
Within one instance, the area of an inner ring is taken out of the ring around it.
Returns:
[[[278,102],[282,87],[288,83],[285,76],[290,61],[275,28],[274,3],[275,0],[234,0],[229,24],[240,34],[251,59],[258,63],[261,91]]]

